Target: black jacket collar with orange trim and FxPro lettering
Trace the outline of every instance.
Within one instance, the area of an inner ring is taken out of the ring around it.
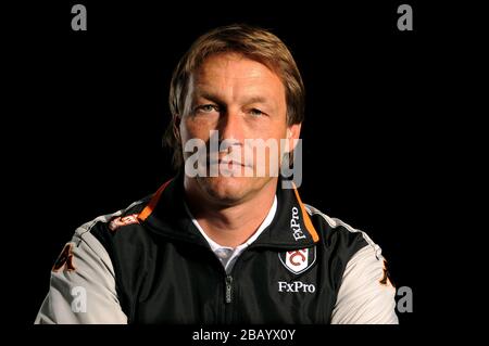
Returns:
[[[250,247],[297,249],[314,246],[319,240],[318,233],[298,190],[281,189],[279,181],[276,193],[275,217]],[[184,174],[180,171],[153,194],[139,214],[139,221],[166,238],[209,246],[185,210],[184,196]]]

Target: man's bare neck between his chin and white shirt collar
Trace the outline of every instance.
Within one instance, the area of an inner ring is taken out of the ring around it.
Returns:
[[[223,246],[236,247],[250,239],[274,203],[277,180],[271,180],[251,198],[222,205],[196,189],[186,188],[187,203],[205,234]]]

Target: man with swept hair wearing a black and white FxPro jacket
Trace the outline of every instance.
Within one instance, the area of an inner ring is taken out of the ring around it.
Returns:
[[[304,88],[275,35],[233,25],[200,37],[170,106],[178,174],[76,230],[36,323],[398,322],[380,248],[277,175]],[[285,144],[260,155],[253,140]]]

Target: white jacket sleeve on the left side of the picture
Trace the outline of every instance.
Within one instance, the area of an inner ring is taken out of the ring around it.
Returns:
[[[35,323],[127,323],[109,254],[87,229],[75,232],[54,264]]]

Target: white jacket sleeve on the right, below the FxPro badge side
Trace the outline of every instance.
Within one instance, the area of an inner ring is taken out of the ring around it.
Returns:
[[[398,324],[396,289],[387,277],[380,247],[368,244],[347,264],[333,324]]]

